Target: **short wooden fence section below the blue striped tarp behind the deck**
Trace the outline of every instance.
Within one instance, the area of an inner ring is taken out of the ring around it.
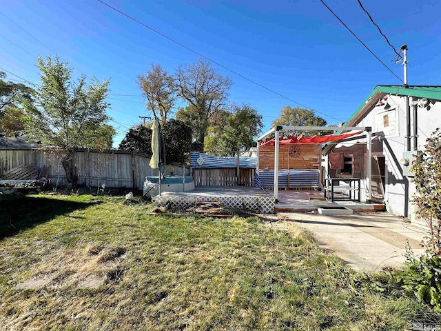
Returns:
[[[240,168],[238,181],[236,168],[193,169],[193,179],[196,186],[253,186],[255,172],[256,169]]]

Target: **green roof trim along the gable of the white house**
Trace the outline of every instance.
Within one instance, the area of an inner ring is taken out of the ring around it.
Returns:
[[[366,106],[366,103],[377,93],[384,94],[393,94],[400,96],[408,96],[408,97],[417,97],[417,98],[427,98],[430,100],[440,100],[441,101],[441,86],[409,86],[408,88],[403,88],[402,86],[384,86],[378,85],[373,89],[369,97],[367,97],[366,101],[363,102],[360,107],[352,114],[351,117],[342,127],[347,126],[351,123],[352,119],[357,116],[357,114]],[[340,131],[338,131],[340,132]],[[336,132],[336,133],[338,133]]]

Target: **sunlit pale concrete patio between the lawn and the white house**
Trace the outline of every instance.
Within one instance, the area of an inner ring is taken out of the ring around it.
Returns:
[[[386,212],[365,212],[342,216],[314,213],[278,213],[276,228],[295,226],[309,230],[323,248],[335,252],[351,268],[373,272],[400,268],[404,263],[406,243],[413,252],[423,254],[420,243],[428,233],[400,217]]]

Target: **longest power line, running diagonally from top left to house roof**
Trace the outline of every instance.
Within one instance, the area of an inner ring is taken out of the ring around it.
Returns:
[[[293,100],[293,99],[291,99],[291,98],[289,98],[289,97],[286,97],[286,96],[283,95],[283,94],[280,94],[280,93],[278,93],[278,92],[276,92],[276,91],[274,91],[274,90],[271,90],[270,88],[267,88],[266,86],[263,86],[262,84],[257,83],[256,81],[253,81],[252,79],[249,79],[249,78],[245,77],[243,74],[239,74],[238,72],[236,72],[236,71],[234,71],[234,70],[232,70],[232,69],[229,69],[229,68],[223,66],[222,64],[220,64],[220,63],[218,63],[218,62],[216,62],[216,61],[213,61],[212,59],[209,59],[208,57],[206,57],[205,55],[201,54],[200,52],[197,52],[196,50],[193,50],[192,48],[189,48],[188,46],[185,46],[183,43],[180,43],[179,41],[176,41],[175,39],[172,39],[171,37],[168,37],[167,35],[163,34],[162,32],[159,32],[158,30],[155,30],[154,28],[152,28],[152,27],[150,27],[150,26],[147,26],[147,24],[145,24],[145,23],[139,21],[138,19],[135,19],[134,17],[130,16],[129,14],[125,14],[125,12],[122,12],[121,10],[119,10],[119,9],[117,9],[117,8],[114,8],[114,7],[110,6],[108,3],[105,3],[105,2],[102,1],[102,0],[96,0],[96,1],[99,1],[99,2],[102,3],[104,6],[107,6],[108,8],[114,10],[115,12],[119,12],[119,14],[121,14],[121,15],[127,17],[127,19],[131,19],[132,21],[134,21],[134,22],[140,24],[140,25],[143,26],[144,28],[147,28],[147,29],[149,29],[149,30],[151,30],[151,31],[153,31],[153,32],[155,32],[155,33],[157,33],[157,34],[159,34],[161,37],[164,37],[165,39],[168,39],[168,40],[172,41],[173,43],[176,43],[178,46],[181,46],[182,48],[185,48],[186,50],[189,50],[190,52],[192,52],[192,53],[198,55],[199,57],[202,57],[203,59],[206,59],[206,60],[208,60],[208,61],[210,61],[210,62],[216,64],[216,66],[219,66],[220,68],[223,68],[223,69],[225,69],[225,70],[228,70],[229,72],[232,72],[233,74],[236,74],[236,76],[241,77],[241,78],[243,78],[243,79],[249,81],[250,83],[253,83],[254,85],[259,86],[260,88],[263,88],[263,89],[265,89],[265,90],[267,90],[267,91],[269,91],[269,92],[271,92],[271,93],[274,93],[274,94],[278,95],[279,97],[282,97],[283,99],[287,99],[287,100],[289,100],[289,101],[291,101],[291,102],[297,103],[299,106],[305,107],[305,108],[307,108],[307,109],[312,109],[312,108],[309,108],[309,107],[303,105],[302,103],[299,103],[299,102],[297,102],[297,101],[295,101],[295,100]],[[314,110],[314,111],[317,112],[318,114],[322,114],[322,115],[324,115],[324,116],[326,116],[326,117],[329,117],[329,118],[331,118],[331,119],[337,119],[336,117],[331,117],[329,114],[325,114],[324,112],[319,112],[319,111],[317,111],[317,110]],[[339,119],[337,119],[337,120],[339,120]]]

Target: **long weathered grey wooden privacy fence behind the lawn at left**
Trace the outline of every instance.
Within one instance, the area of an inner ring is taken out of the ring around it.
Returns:
[[[48,149],[0,149],[0,176],[4,172],[21,165],[50,168],[48,179],[52,184],[65,185],[66,174],[61,165],[63,151]],[[75,154],[74,165],[79,185],[91,187],[105,185],[107,188],[131,188],[142,190],[146,176],[157,176],[158,170],[150,168],[150,157],[126,151],[97,152],[79,150]],[[167,172],[175,175],[189,174],[189,168],[182,165],[167,166]]]

